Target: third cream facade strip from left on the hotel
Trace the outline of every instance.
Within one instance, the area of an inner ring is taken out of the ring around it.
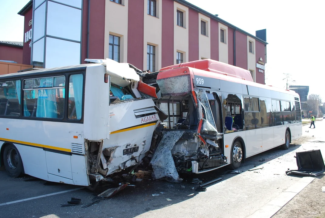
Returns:
[[[183,11],[183,25],[177,26],[177,10]],[[188,7],[174,2],[174,64],[176,53],[183,53],[183,62],[188,62]]]

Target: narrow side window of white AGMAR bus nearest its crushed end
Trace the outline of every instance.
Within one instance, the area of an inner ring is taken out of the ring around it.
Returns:
[[[82,113],[82,97],[83,97],[83,81],[82,74],[74,74],[69,77],[69,102],[68,102],[68,118],[80,120]]]

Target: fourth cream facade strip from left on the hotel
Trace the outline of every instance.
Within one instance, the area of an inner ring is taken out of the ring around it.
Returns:
[[[201,20],[205,22],[206,35],[201,34]],[[199,59],[211,58],[210,18],[199,13]]]

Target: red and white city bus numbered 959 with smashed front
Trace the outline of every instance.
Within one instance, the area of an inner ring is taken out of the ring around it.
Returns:
[[[255,83],[248,70],[205,59],[156,75],[161,94],[156,105],[168,115],[151,160],[156,178],[178,179],[177,172],[225,165],[237,169],[255,154],[288,149],[302,134],[299,95]]]

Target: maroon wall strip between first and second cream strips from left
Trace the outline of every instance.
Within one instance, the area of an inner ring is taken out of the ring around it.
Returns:
[[[129,1],[127,26],[127,62],[143,68],[143,14],[144,1]]]

